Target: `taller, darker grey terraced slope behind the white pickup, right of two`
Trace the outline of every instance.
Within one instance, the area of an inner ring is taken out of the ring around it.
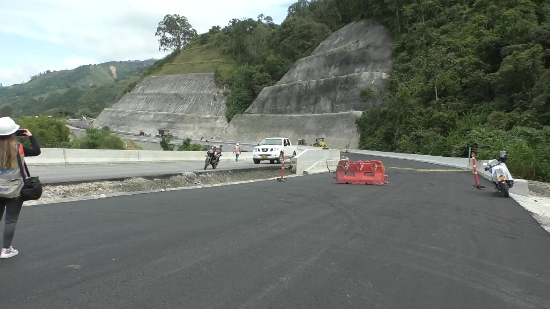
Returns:
[[[274,86],[260,92],[223,133],[227,140],[261,140],[274,131],[292,140],[326,137],[329,146],[356,147],[355,120],[381,103],[392,68],[393,39],[388,29],[362,20],[335,31],[299,59]],[[372,93],[362,100],[361,91]]]

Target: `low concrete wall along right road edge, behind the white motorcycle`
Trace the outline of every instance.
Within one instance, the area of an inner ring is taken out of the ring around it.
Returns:
[[[438,156],[426,156],[424,154],[383,152],[383,151],[371,151],[371,150],[359,150],[359,149],[346,149],[346,152],[368,154],[376,157],[397,158],[397,159],[405,159],[405,160],[412,160],[412,161],[419,161],[419,162],[426,162],[426,163],[434,163],[438,165],[456,167],[461,169],[473,169],[471,160],[468,158],[438,157]],[[492,181],[491,174],[483,170],[484,168],[483,162],[487,162],[487,161],[486,160],[477,161],[477,174],[489,181]],[[529,195],[529,191],[527,190],[528,188],[529,188],[529,182],[527,180],[514,178],[514,187],[510,189],[510,193],[522,195],[522,196],[528,196]]]

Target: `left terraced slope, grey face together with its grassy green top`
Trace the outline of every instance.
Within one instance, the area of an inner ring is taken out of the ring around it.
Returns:
[[[104,109],[94,125],[146,134],[166,129],[193,138],[219,135],[227,126],[228,91],[216,85],[215,71],[234,66],[210,45],[185,49]]]

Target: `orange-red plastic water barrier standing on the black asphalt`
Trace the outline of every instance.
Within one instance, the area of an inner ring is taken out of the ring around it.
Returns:
[[[347,161],[338,162],[336,167],[337,184],[371,184],[385,185],[388,183],[384,175],[384,164],[380,161]]]

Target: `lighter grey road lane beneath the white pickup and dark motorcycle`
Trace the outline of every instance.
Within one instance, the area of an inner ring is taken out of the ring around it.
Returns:
[[[266,162],[254,164],[252,159],[241,159],[239,162],[221,161],[216,170],[258,168],[271,165]],[[204,171],[204,162],[171,162],[171,163],[128,163],[128,164],[84,164],[84,165],[32,165],[29,167],[32,176],[39,176],[43,184],[74,181],[104,180],[127,177],[156,176],[182,172]],[[212,170],[208,165],[207,170]]]

